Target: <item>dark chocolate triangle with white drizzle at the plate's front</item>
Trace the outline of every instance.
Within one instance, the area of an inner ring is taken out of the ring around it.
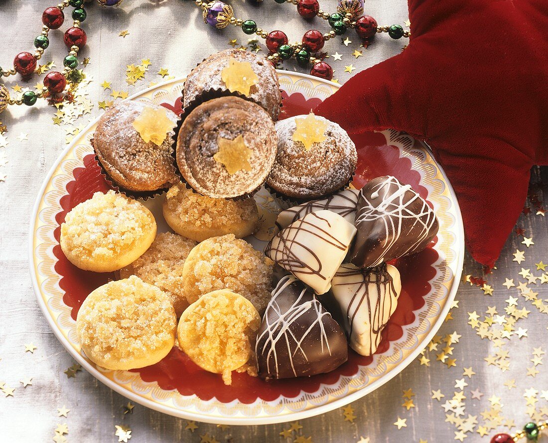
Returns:
[[[255,344],[259,376],[290,378],[333,371],[348,358],[343,330],[292,275],[272,291]]]

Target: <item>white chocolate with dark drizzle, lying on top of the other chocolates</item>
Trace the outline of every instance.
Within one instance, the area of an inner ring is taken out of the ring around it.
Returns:
[[[355,234],[339,214],[312,212],[278,232],[265,254],[321,295],[329,291]]]

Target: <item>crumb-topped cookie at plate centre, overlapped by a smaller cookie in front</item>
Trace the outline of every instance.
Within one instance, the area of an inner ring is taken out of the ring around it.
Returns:
[[[204,240],[190,251],[182,278],[189,301],[230,289],[246,297],[262,315],[270,301],[272,261],[247,241],[227,234]]]

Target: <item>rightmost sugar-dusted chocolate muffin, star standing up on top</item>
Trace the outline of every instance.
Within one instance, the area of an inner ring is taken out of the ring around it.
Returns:
[[[276,123],[278,153],[266,184],[282,198],[306,202],[346,186],[356,146],[338,124],[309,114]]]

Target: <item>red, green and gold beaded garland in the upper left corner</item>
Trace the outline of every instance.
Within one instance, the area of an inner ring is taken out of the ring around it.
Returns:
[[[86,0],[88,1],[88,0]],[[101,6],[112,6],[121,3],[121,0],[98,0]],[[28,79],[37,70],[37,62],[42,58],[45,49],[49,46],[49,31],[59,29],[65,21],[63,10],[71,6],[72,27],[68,28],[63,36],[68,55],[63,60],[64,70],[50,71],[44,77],[44,87],[39,93],[35,91],[25,91],[18,99],[10,97],[8,88],[0,83],[0,113],[6,110],[9,105],[27,105],[32,106],[38,99],[49,99],[54,103],[71,99],[71,91],[76,88],[79,82],[84,78],[81,70],[78,70],[78,51],[87,43],[85,31],[80,27],[86,19],[87,13],[84,9],[84,0],[63,0],[56,6],[46,8],[42,14],[42,32],[35,38],[34,45],[36,51],[21,52],[15,56],[13,68],[3,70],[0,67],[0,78],[20,74],[24,79]],[[65,93],[64,95],[62,95]]]

